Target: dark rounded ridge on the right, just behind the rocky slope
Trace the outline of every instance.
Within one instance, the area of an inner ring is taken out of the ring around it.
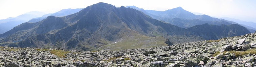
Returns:
[[[238,24],[232,25],[196,25],[188,28],[191,32],[196,32],[195,35],[201,36],[206,40],[210,39],[220,39],[224,37],[240,36],[243,34],[250,33],[245,27]],[[238,32],[239,31],[239,32]]]

